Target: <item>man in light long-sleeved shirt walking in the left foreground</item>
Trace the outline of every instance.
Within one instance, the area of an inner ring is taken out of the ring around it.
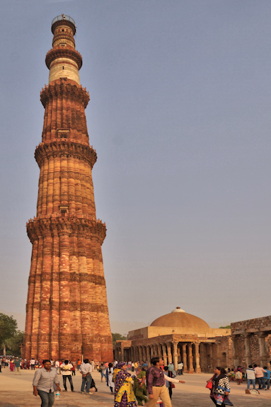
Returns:
[[[43,360],[43,367],[37,369],[33,379],[33,394],[40,396],[41,407],[52,407],[54,404],[54,384],[61,391],[57,370],[51,366],[50,360]]]

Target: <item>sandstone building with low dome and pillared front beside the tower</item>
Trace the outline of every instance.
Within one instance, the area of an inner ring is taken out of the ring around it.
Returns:
[[[208,372],[214,365],[231,363],[231,330],[210,328],[198,316],[188,314],[180,306],[159,316],[149,326],[129,331],[127,340],[117,341],[115,359],[139,360],[150,364],[158,356],[165,365],[183,362],[184,372]]]

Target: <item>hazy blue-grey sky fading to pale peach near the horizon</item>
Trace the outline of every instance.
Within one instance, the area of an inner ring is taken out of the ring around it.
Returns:
[[[76,21],[110,320],[271,314],[271,2],[2,0],[1,311],[23,313],[51,22]],[[255,301],[253,301],[253,298]]]

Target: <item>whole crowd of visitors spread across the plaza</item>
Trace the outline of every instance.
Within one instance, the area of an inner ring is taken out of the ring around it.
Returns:
[[[271,361],[270,361],[271,363]],[[171,407],[171,397],[175,384],[185,383],[175,379],[176,375],[183,374],[183,363],[177,365],[177,372],[173,363],[168,366],[163,365],[163,360],[159,357],[151,359],[151,367],[148,363],[139,362],[100,362],[95,363],[88,359],[76,360],[25,360],[22,357],[1,357],[0,367],[8,367],[11,372],[21,374],[23,369],[35,370],[33,379],[33,394],[40,396],[42,407],[52,407],[54,403],[54,391],[61,391],[59,377],[62,375],[64,391],[67,389],[67,380],[71,391],[74,391],[72,376],[79,372],[81,374],[81,394],[93,394],[98,391],[93,379],[93,370],[100,373],[100,381],[105,379],[110,394],[114,396],[115,407],[135,407],[144,406]],[[1,369],[0,369],[1,371]],[[271,371],[266,366],[260,367],[256,364],[249,365],[248,368],[238,366],[236,369],[216,367],[214,374],[207,381],[207,388],[210,389],[210,397],[218,407],[232,406],[229,401],[230,382],[237,384],[247,382],[247,389],[253,385],[258,390],[270,389]]]

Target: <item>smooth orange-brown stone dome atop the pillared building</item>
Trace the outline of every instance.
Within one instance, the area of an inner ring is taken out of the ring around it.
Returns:
[[[183,309],[180,309],[180,306],[177,306],[170,314],[162,315],[157,318],[151,323],[151,326],[175,326],[176,328],[189,328],[194,332],[197,332],[197,329],[199,328],[200,330],[207,330],[210,328],[208,323],[203,321],[203,319],[188,314]]]

